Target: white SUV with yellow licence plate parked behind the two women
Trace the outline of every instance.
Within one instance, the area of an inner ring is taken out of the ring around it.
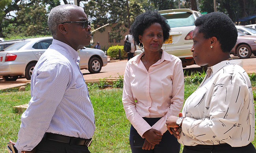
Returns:
[[[190,9],[169,9],[159,13],[167,19],[171,27],[169,39],[163,43],[162,49],[180,58],[183,67],[195,64],[190,51],[193,45],[192,34],[195,29],[194,22],[202,14]],[[138,46],[137,49],[135,55],[142,52]]]

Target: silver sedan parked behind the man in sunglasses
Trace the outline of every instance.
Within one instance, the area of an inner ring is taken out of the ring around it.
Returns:
[[[5,81],[15,81],[18,76],[30,80],[35,64],[52,44],[52,37],[32,38],[17,42],[0,51],[0,76]],[[102,50],[83,48],[79,50],[80,68],[91,73],[100,72],[108,63]]]

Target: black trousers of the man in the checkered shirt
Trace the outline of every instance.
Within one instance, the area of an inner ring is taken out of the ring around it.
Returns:
[[[70,145],[63,142],[43,139],[37,145],[36,153],[90,153],[87,146]]]

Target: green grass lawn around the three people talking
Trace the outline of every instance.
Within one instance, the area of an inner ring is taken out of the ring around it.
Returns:
[[[198,85],[198,83],[185,84],[185,99],[196,90]],[[256,81],[252,81],[252,86],[255,103]],[[17,140],[21,114],[15,113],[12,107],[28,103],[30,88],[26,90],[24,92],[18,92],[15,89],[0,90],[0,153],[7,153],[5,148],[9,140]],[[95,110],[96,122],[93,143],[89,147],[91,153],[131,153],[130,122],[126,119],[122,106],[122,88],[91,89],[89,94]],[[256,146],[255,138],[253,144]]]

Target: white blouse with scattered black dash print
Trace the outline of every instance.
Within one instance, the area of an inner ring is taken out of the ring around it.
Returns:
[[[197,90],[183,107],[186,117],[178,140],[186,146],[246,146],[254,140],[252,86],[241,59],[209,67]]]

